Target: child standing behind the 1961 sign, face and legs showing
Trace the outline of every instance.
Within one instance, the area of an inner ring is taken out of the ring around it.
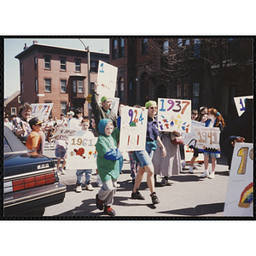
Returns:
[[[90,126],[90,120],[89,119],[82,119],[81,121],[81,126],[82,130],[77,131],[75,133],[75,137],[94,137],[93,133],[89,131],[89,126]],[[83,180],[83,174],[85,174],[85,189],[89,191],[93,191],[93,187],[90,182],[90,176],[91,176],[91,169],[83,169],[83,170],[77,170],[76,175],[77,175],[77,189],[76,192],[82,192],[82,180]]]

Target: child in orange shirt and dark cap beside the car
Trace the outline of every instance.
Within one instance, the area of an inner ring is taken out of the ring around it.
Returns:
[[[36,152],[38,154],[41,153],[42,140],[39,135],[39,132],[42,131],[41,125],[44,121],[41,121],[38,118],[33,118],[29,121],[29,125],[32,129],[32,132],[26,139],[26,148],[32,150],[32,152]]]

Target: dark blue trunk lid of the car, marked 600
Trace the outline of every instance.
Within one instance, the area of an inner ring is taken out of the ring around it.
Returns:
[[[27,174],[55,168],[54,161],[43,154],[30,153],[4,154],[3,175],[5,177]]]

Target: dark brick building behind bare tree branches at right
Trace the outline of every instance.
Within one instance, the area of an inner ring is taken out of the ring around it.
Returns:
[[[217,40],[111,38],[109,63],[119,67],[116,96],[130,106],[159,97],[189,99],[195,109],[217,108],[228,125],[237,117],[233,97],[253,95],[253,39]],[[186,47],[188,69],[174,73],[169,67],[163,73],[171,50],[175,55]]]

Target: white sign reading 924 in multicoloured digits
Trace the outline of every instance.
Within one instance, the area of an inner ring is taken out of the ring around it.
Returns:
[[[119,148],[121,151],[143,150],[146,146],[148,110],[125,106],[121,112]]]

